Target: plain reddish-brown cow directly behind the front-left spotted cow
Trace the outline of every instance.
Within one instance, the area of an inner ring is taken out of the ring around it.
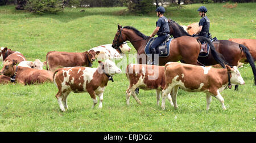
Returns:
[[[95,55],[100,51],[89,50],[83,53],[69,53],[65,51],[49,51],[46,55],[46,70],[54,72],[61,67],[91,67],[95,60]]]

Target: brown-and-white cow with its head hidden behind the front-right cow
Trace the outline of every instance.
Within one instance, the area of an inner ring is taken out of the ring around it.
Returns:
[[[164,86],[166,86],[166,79],[164,77],[164,67],[148,64],[128,64],[126,67],[126,77],[130,82],[129,88],[126,90],[126,103],[130,104],[130,96],[132,95],[137,103],[141,104],[135,94],[135,89],[154,90],[156,91],[157,105],[159,105],[160,94]],[[168,100],[171,105],[172,99],[168,94]]]

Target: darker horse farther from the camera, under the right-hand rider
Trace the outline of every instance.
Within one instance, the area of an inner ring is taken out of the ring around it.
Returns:
[[[171,19],[168,21],[170,34],[174,36],[174,38],[191,36],[185,32],[184,29],[175,21]],[[213,41],[212,44],[214,45],[216,51],[221,54],[221,58],[224,59],[226,64],[229,64],[229,66],[237,66],[239,61],[245,61],[249,63],[251,69],[253,70],[254,85],[256,85],[256,68],[254,65],[254,59],[251,57],[251,54],[246,46],[228,40],[216,40]],[[199,57],[198,60],[205,66],[212,66],[217,64],[212,53],[209,53],[208,57]]]

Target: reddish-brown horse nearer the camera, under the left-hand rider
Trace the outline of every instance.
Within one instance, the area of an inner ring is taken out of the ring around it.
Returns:
[[[144,47],[149,40],[150,38],[148,36],[145,36],[134,27],[126,26],[122,28],[122,26],[118,24],[112,47],[118,49],[123,42],[130,41],[137,50],[137,62],[146,64],[147,56],[144,52]],[[177,62],[179,60],[188,64],[199,65],[197,63],[197,58],[201,49],[199,40],[206,40],[208,42],[212,53],[215,53],[214,59],[216,59],[218,61],[217,63],[220,63],[222,67],[225,67],[224,61],[218,57],[217,52],[214,50],[214,46],[207,38],[191,36],[182,36],[173,39],[170,44],[170,54],[168,57],[159,57],[159,66],[164,66],[167,62]],[[146,60],[143,60],[143,58],[146,58]]]

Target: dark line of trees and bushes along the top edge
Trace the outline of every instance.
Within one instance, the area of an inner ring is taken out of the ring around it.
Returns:
[[[0,0],[1,5],[16,5],[16,10],[44,14],[57,13],[64,7],[115,7],[126,6],[129,12],[147,14],[163,5],[187,5],[192,3],[255,2],[256,0]]]

